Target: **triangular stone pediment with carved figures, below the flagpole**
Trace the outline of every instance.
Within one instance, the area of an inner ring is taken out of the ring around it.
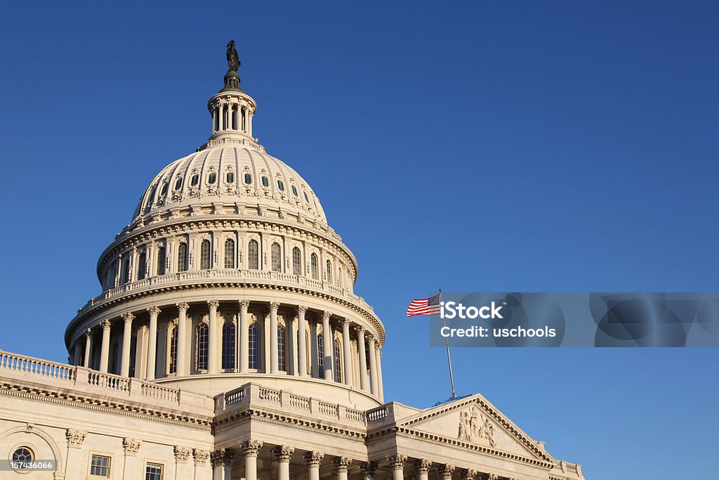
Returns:
[[[398,421],[397,426],[446,438],[460,448],[479,447],[555,463],[536,440],[480,394],[425,409]]]

